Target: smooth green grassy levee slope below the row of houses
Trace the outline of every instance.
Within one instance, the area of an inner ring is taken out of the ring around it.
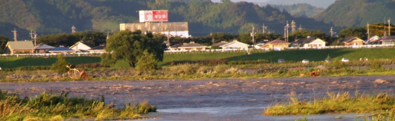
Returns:
[[[278,59],[286,61],[322,61],[327,56],[332,60],[348,58],[349,60],[359,60],[360,58],[372,59],[395,59],[395,48],[371,48],[371,49],[324,49],[324,50],[291,50],[291,51],[270,51],[253,52],[247,55],[246,52],[224,52],[224,53],[182,53],[165,54],[163,62],[159,65],[169,65],[175,60],[269,60],[277,62]],[[67,57],[66,60],[71,64],[100,62],[100,57]],[[51,65],[56,61],[52,58],[31,58],[31,57],[8,57],[0,58],[0,67],[16,68],[22,66]],[[116,66],[127,66],[125,62],[118,62]]]

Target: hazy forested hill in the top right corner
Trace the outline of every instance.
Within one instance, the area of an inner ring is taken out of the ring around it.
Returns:
[[[314,18],[340,27],[387,22],[395,20],[395,0],[337,0]]]

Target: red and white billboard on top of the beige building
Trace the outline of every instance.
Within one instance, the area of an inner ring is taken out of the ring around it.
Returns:
[[[167,22],[168,10],[141,10],[140,22]]]

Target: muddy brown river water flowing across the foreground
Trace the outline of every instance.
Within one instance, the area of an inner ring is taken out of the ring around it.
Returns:
[[[376,79],[387,83],[375,83]],[[197,80],[133,80],[0,83],[0,89],[18,93],[21,97],[42,92],[69,92],[69,96],[100,98],[115,101],[117,107],[127,102],[148,100],[159,113],[159,121],[294,121],[303,116],[261,116],[264,108],[276,102],[288,101],[295,91],[300,100],[325,96],[327,91],[358,90],[370,94],[394,94],[395,75],[345,76],[264,79],[197,79]],[[343,119],[334,119],[336,116]],[[354,121],[360,114],[310,115],[315,121]]]

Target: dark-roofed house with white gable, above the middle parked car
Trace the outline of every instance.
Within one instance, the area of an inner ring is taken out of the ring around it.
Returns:
[[[306,37],[291,42],[291,47],[325,47],[326,42],[317,37]]]

